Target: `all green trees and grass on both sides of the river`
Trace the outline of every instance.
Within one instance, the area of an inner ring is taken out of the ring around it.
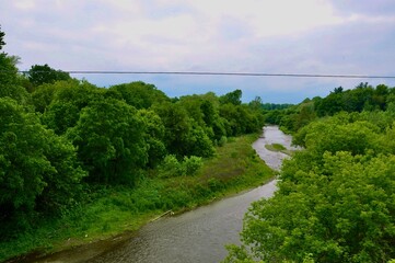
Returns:
[[[275,196],[253,204],[225,262],[395,258],[395,88],[244,104],[241,90],[171,99],[141,81],[103,89],[48,65],[21,75],[18,61],[0,53],[0,261],[262,184],[274,173],[251,144],[265,122],[304,150],[284,161]]]

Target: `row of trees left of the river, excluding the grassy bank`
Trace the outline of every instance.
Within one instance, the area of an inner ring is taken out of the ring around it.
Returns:
[[[156,168],[190,175],[214,146],[264,124],[241,90],[169,98],[141,81],[98,88],[48,65],[19,73],[18,60],[0,53],[1,239],[61,215],[95,185],[136,187]]]

